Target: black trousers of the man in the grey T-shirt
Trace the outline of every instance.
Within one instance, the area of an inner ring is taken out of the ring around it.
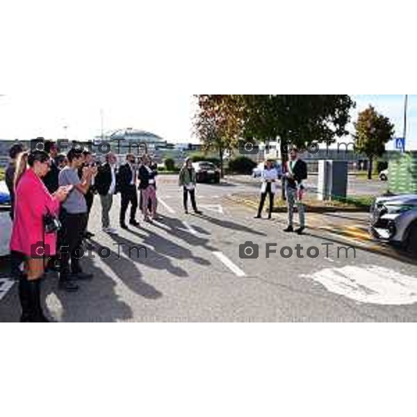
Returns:
[[[60,279],[67,279],[71,272],[80,272],[79,259],[81,254],[81,243],[83,243],[83,232],[87,224],[87,213],[71,214],[62,210],[60,213],[60,222],[62,229],[58,236],[60,243]]]

